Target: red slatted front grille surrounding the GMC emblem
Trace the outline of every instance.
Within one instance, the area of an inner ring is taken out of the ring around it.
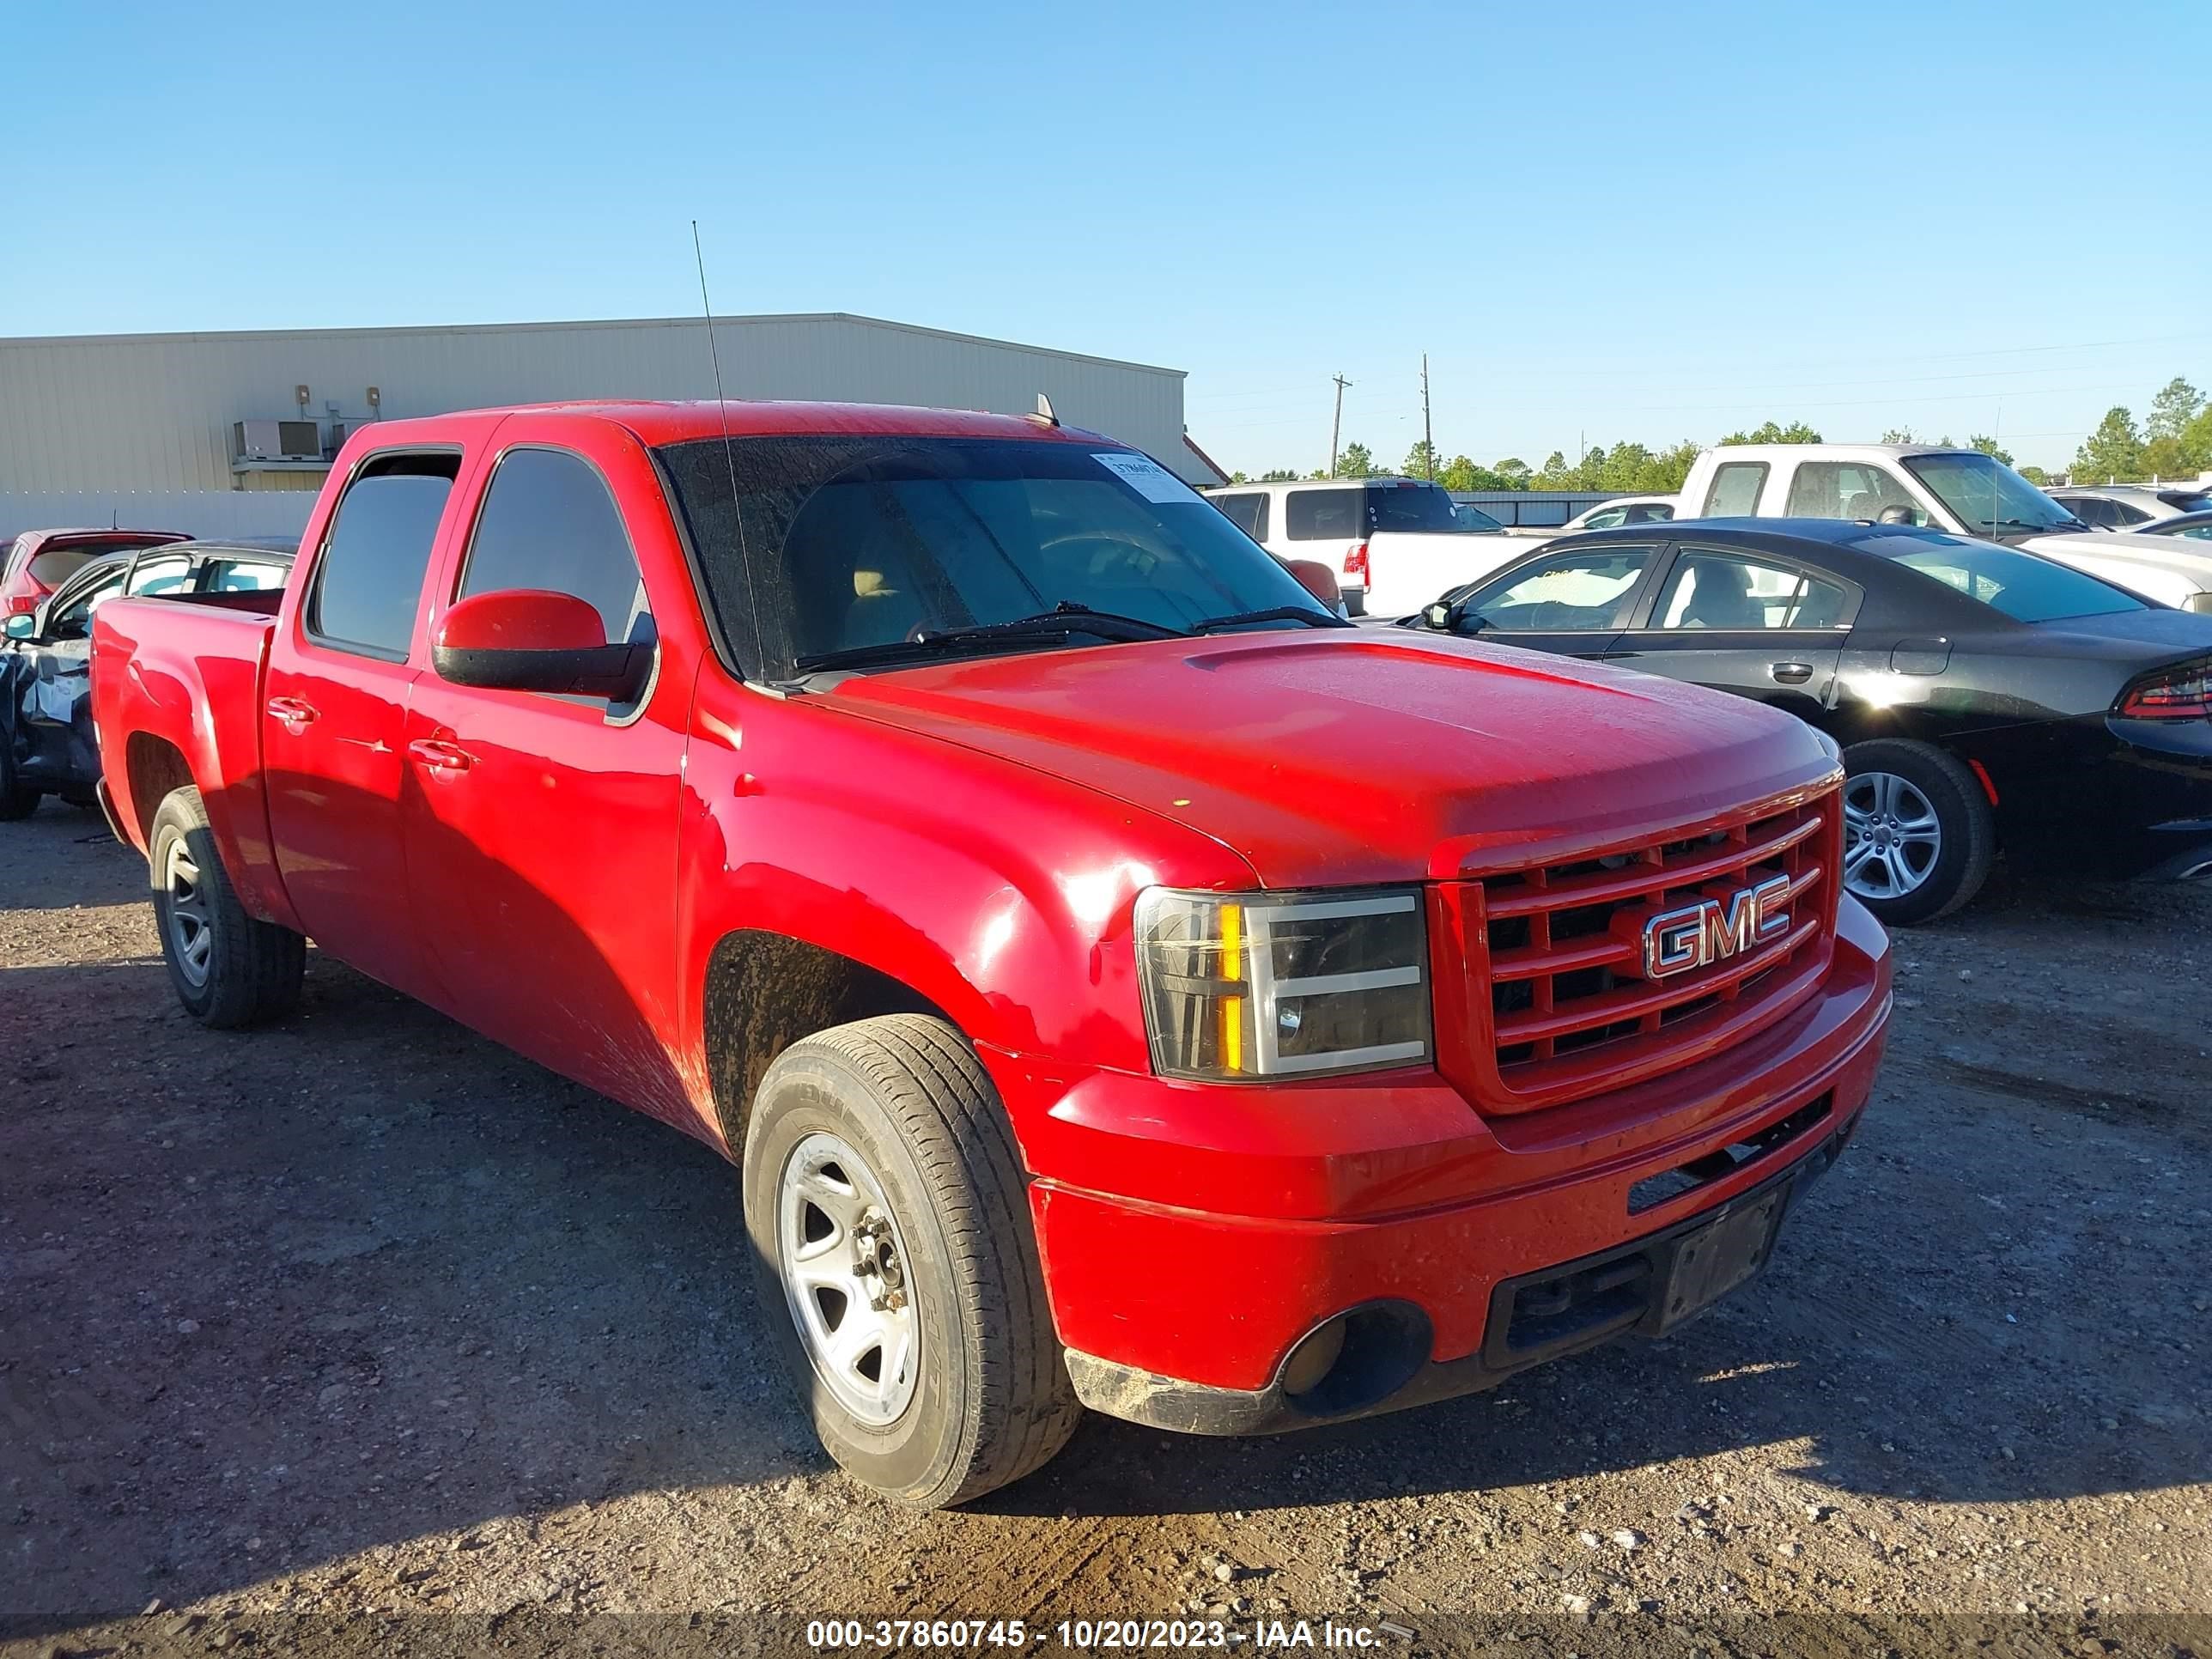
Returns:
[[[1486,1110],[1535,1110],[1672,1071],[1790,1011],[1827,967],[1836,925],[1838,794],[1754,807],[1670,841],[1467,883],[1471,1071]],[[1650,978],[1644,922],[1783,878],[1787,922],[1734,953]],[[1471,987],[1473,989],[1473,987]]]

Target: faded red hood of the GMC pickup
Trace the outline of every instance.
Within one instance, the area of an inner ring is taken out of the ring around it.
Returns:
[[[1267,887],[1553,860],[1838,774],[1761,703],[1411,630],[1040,650],[823,701],[1188,825]]]

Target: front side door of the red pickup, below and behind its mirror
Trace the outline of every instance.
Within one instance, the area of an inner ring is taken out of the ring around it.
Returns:
[[[608,480],[666,507],[615,427],[511,416],[445,606],[571,593],[608,641],[653,644],[653,599]],[[664,604],[675,595],[664,595]],[[675,863],[690,686],[666,661],[635,706],[416,684],[405,759],[416,931],[478,1031],[655,1117],[692,1124],[677,1042]]]

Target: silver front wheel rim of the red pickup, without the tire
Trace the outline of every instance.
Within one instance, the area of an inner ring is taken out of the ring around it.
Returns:
[[[814,1376],[856,1420],[896,1422],[922,1369],[907,1245],[876,1172],[836,1135],[807,1135],[783,1164],[776,1256]]]

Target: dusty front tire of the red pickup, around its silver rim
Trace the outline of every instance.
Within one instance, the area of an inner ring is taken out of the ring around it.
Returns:
[[[783,1181],[801,1144],[821,1135],[858,1152],[880,1188],[914,1298],[914,1391],[883,1425],[847,1409],[814,1369],[785,1296]],[[847,1473],[902,1504],[945,1509],[1066,1444],[1082,1405],[1044,1298],[1013,1128],[953,1026],[896,1013],[785,1048],[745,1126],[743,1194],[768,1325]]]

